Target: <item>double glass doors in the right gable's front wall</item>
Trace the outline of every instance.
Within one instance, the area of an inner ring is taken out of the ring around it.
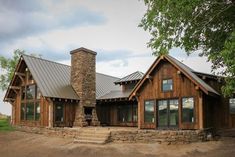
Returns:
[[[158,127],[178,127],[179,123],[179,102],[178,99],[158,101]]]

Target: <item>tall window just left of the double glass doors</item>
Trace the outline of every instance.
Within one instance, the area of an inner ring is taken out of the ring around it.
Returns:
[[[144,121],[147,123],[154,123],[154,100],[147,100],[144,102]]]

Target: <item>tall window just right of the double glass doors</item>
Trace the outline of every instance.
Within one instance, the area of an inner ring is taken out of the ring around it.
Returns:
[[[194,99],[183,98],[182,99],[182,120],[183,122],[193,123],[194,122]]]

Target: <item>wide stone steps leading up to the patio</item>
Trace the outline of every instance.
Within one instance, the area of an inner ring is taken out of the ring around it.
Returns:
[[[110,131],[83,129],[74,143],[105,144],[110,140]]]

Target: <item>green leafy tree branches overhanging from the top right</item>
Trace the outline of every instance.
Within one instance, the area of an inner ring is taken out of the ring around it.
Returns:
[[[148,7],[140,27],[152,38],[148,46],[155,55],[180,47],[189,55],[211,61],[213,71],[223,69],[225,96],[235,93],[235,1],[234,0],[144,0]]]

